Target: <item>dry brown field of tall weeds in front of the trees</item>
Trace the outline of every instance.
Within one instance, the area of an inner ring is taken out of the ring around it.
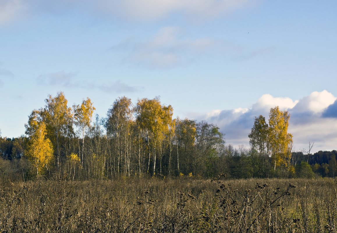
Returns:
[[[337,179],[0,181],[0,232],[336,232]]]

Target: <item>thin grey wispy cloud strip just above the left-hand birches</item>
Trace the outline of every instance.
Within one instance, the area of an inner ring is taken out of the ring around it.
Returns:
[[[140,87],[132,87],[121,80],[105,84],[97,84],[76,78],[78,72],[58,71],[41,74],[36,78],[38,84],[44,86],[61,86],[64,88],[98,89],[106,93],[131,93],[139,91]]]

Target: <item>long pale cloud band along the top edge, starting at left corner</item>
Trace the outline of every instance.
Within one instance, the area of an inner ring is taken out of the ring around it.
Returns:
[[[254,5],[261,0],[1,0],[0,25],[41,12],[59,13],[69,9],[125,20],[156,21],[173,14],[191,20],[210,19]]]

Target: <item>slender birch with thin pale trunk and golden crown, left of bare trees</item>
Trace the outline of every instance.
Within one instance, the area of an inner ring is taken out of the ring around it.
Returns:
[[[73,105],[74,123],[82,132],[82,153],[80,155],[81,165],[83,166],[84,159],[84,133],[90,127],[92,114],[96,108],[93,106],[91,100],[87,98],[82,101],[81,105]]]

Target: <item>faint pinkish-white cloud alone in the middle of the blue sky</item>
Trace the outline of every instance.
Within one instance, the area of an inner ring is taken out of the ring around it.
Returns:
[[[112,50],[129,52],[124,61],[150,68],[171,68],[200,55],[216,42],[210,38],[186,38],[179,27],[163,27],[152,37],[136,43],[130,37]]]

